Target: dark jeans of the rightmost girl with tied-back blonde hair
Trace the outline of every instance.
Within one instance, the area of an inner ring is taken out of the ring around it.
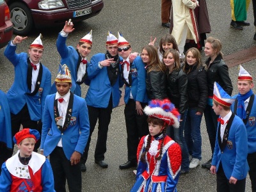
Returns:
[[[216,115],[214,113],[212,106],[207,104],[204,109],[204,118],[205,118],[207,133],[208,133],[210,144],[211,144],[212,154],[214,152],[214,147],[215,147],[217,126],[218,126],[218,121],[217,121],[218,117],[219,117],[219,115]]]

